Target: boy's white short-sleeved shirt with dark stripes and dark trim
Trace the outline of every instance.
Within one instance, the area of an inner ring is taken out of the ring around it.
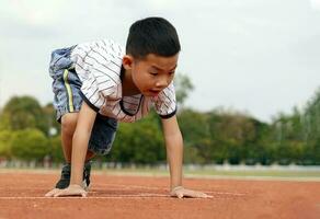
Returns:
[[[173,82],[157,96],[123,96],[122,59],[125,49],[110,39],[78,44],[71,53],[82,82],[81,95],[101,115],[133,123],[146,116],[151,107],[163,118],[176,112]]]

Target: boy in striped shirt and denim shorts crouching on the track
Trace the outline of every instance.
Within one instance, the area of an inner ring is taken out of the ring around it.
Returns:
[[[209,197],[182,186],[183,140],[175,117],[173,88],[179,53],[176,31],[162,18],[135,22],[126,53],[112,41],[79,44],[53,53],[49,70],[67,164],[56,188],[46,196],[87,196],[90,159],[95,153],[108,153],[117,120],[140,119],[153,105],[162,118],[170,195]]]

